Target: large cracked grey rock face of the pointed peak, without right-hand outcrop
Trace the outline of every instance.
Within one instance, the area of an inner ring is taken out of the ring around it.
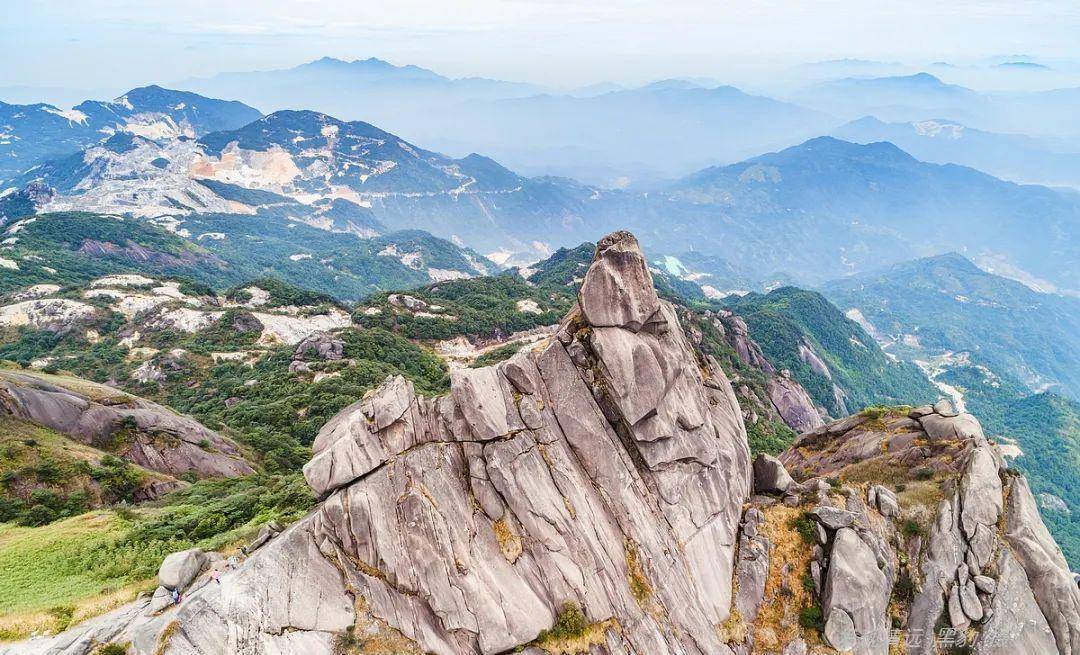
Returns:
[[[602,242],[580,303],[448,396],[391,378],[327,423],[305,468],[322,506],[192,592],[162,652],[330,653],[375,621],[417,652],[495,654],[573,602],[592,653],[729,653],[751,487],[733,392],[629,235]]]

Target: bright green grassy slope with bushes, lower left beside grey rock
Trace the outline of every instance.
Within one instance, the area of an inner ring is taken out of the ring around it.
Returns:
[[[146,586],[170,552],[221,548],[313,505],[299,474],[256,474],[200,481],[135,511],[93,511],[44,527],[0,524],[0,616],[81,607]]]

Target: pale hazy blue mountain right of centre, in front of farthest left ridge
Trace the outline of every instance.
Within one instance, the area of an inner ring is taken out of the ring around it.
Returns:
[[[733,86],[667,80],[589,97],[470,103],[405,130],[448,152],[481,150],[532,175],[646,184],[821,134],[824,113]]]

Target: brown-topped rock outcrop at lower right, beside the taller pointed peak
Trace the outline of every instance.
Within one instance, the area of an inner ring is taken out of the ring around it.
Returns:
[[[892,620],[907,653],[933,654],[944,617],[951,643],[975,653],[1080,653],[1080,589],[1026,480],[970,414],[943,402],[851,416],[801,436],[781,460],[796,479],[883,482],[865,484],[865,505],[842,486],[845,509],[823,492],[808,512],[827,533],[822,611],[834,647],[883,655]],[[901,587],[912,598],[890,616]]]

